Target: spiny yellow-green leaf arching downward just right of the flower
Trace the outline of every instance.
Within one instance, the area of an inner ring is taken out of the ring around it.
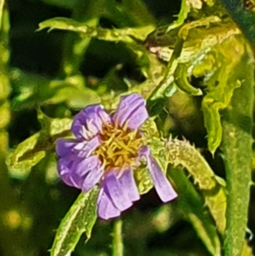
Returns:
[[[223,179],[215,176],[200,152],[187,140],[170,139],[167,144],[167,161],[172,165],[182,166],[193,176],[205,197],[205,203],[214,217],[219,232],[223,234],[226,227],[226,194]]]

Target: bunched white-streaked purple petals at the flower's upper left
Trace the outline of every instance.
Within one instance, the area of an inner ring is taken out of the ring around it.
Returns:
[[[90,105],[75,116],[71,131],[78,139],[90,139],[102,130],[104,123],[111,122],[101,105]]]

